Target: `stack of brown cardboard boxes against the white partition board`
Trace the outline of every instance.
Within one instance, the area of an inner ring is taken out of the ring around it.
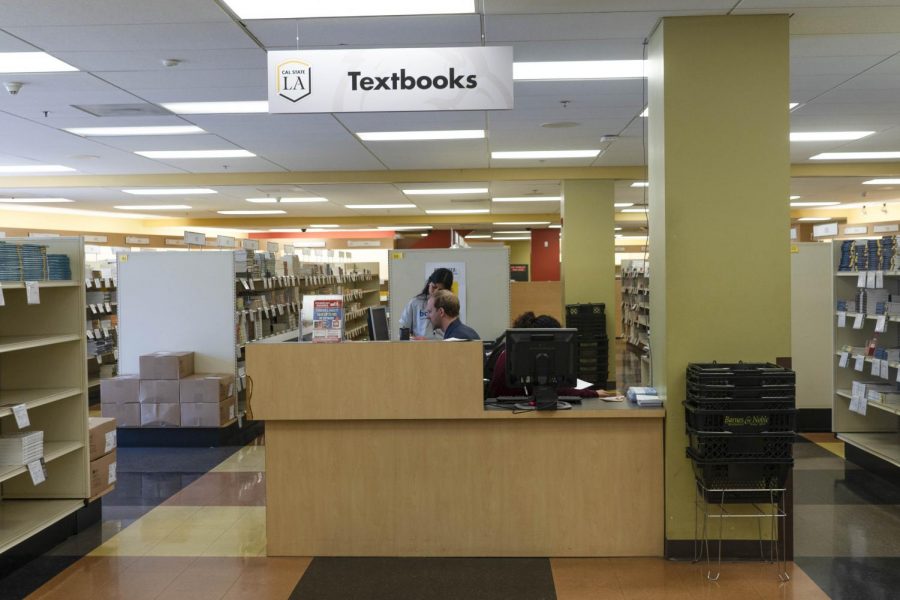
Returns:
[[[234,375],[194,373],[193,352],[140,357],[140,375],[100,382],[104,416],[119,427],[221,427],[235,418]]]

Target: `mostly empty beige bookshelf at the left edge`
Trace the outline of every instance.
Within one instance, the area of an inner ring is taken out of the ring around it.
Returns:
[[[26,285],[2,281],[0,306],[0,432],[19,431],[12,406],[24,404],[30,425],[44,432],[46,481],[35,485],[24,465],[0,465],[0,552],[82,508],[89,495],[87,369],[84,334],[84,249],[80,238],[7,238],[69,257],[71,279],[37,282],[39,304]]]

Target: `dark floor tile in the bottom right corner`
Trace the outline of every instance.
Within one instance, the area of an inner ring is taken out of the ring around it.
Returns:
[[[797,558],[797,565],[834,600],[896,600],[900,558]]]

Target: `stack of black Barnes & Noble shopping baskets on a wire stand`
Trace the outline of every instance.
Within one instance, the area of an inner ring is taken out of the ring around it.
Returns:
[[[688,457],[713,502],[769,502],[794,464],[794,372],[770,363],[687,368]],[[759,491],[750,491],[759,490]],[[764,491],[766,490],[766,491]]]

